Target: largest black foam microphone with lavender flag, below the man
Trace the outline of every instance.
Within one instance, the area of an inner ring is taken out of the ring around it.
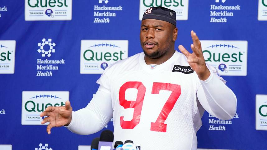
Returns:
[[[99,150],[112,150],[114,135],[110,130],[104,130],[100,134],[98,148]]]

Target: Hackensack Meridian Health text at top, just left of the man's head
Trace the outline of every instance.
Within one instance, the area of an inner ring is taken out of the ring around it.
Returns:
[[[123,11],[122,6],[105,6],[108,0],[98,0],[98,4],[94,5],[94,23],[110,23],[115,18],[118,12]],[[110,3],[109,3],[110,5]],[[112,5],[112,4],[111,4]]]

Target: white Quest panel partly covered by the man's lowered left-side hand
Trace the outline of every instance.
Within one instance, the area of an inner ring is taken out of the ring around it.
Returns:
[[[68,100],[68,91],[23,91],[21,125],[41,125],[44,117],[40,117],[40,114],[45,108],[65,106]]]

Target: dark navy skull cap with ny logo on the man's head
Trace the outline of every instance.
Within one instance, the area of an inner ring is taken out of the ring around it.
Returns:
[[[176,26],[176,12],[165,7],[150,7],[143,15],[142,20],[157,19],[167,21]]]

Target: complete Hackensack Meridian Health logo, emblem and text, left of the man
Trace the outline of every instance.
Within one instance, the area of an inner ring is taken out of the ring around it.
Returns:
[[[50,57],[56,52],[55,47],[56,44],[52,41],[52,39],[43,38],[40,43],[38,43],[37,52],[40,53],[40,58],[36,61],[36,76],[53,76],[53,70],[59,70],[59,65],[65,64],[64,59],[50,59]]]

